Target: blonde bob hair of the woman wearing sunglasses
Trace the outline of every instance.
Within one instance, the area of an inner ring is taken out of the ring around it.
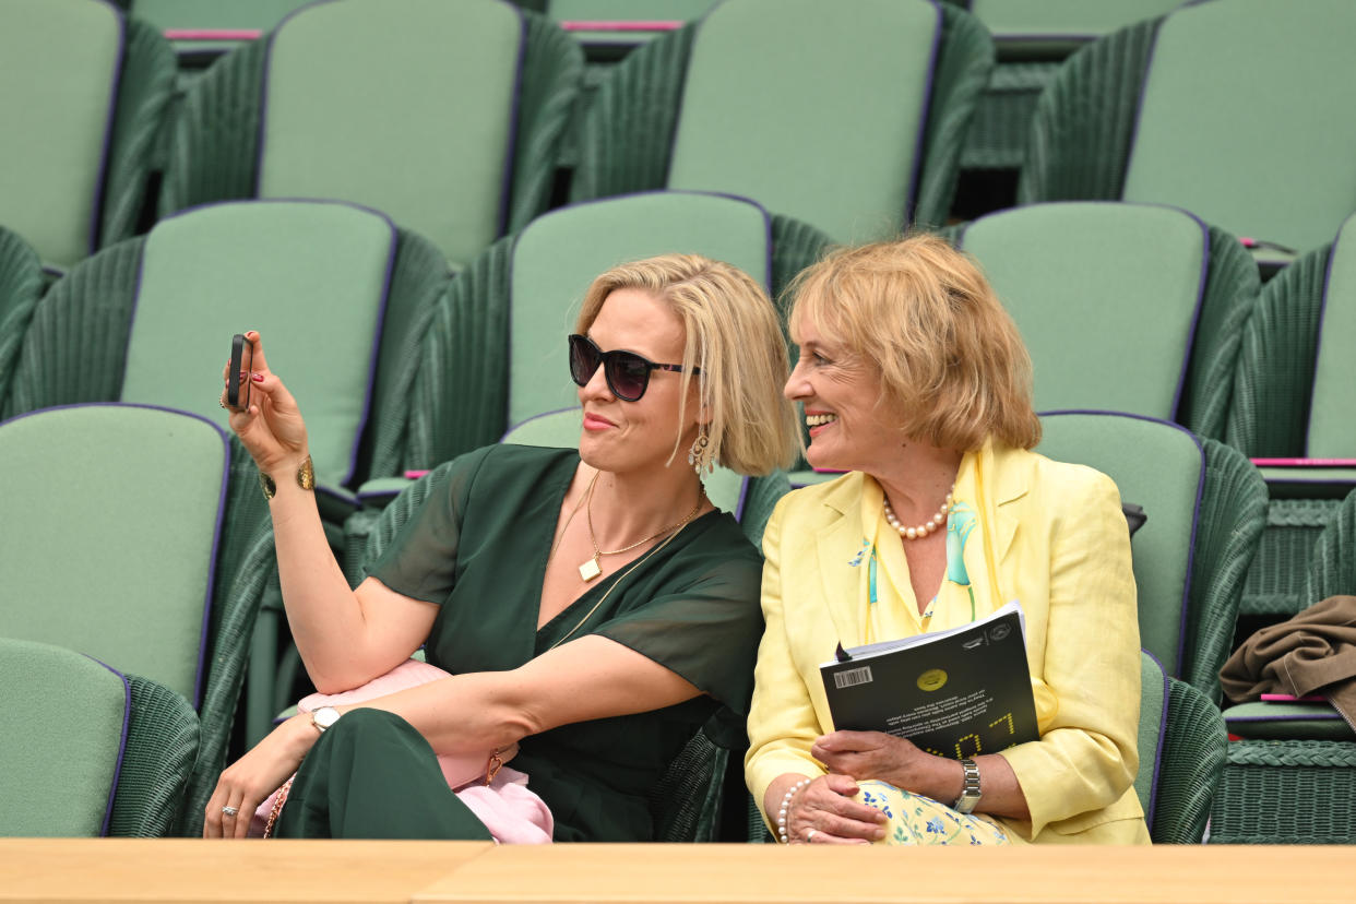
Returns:
[[[692,367],[697,375],[706,436],[716,461],[742,474],[786,468],[799,449],[795,407],[781,394],[786,344],[767,293],[749,274],[700,255],[662,255],[620,264],[593,281],[575,329],[587,333],[607,295],[618,289],[648,293],[682,321],[682,401],[686,419]],[[674,439],[679,451],[682,431]],[[673,462],[673,458],[670,458]]]

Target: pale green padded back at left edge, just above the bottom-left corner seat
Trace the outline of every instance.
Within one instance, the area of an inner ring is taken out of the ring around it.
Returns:
[[[0,424],[0,636],[57,644],[198,705],[229,472],[216,426],[136,405]],[[22,512],[22,515],[19,515]]]

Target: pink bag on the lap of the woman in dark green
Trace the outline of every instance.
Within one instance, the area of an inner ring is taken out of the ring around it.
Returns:
[[[410,659],[362,687],[340,694],[304,697],[297,703],[297,710],[311,713],[320,706],[361,703],[441,678],[449,678],[449,674],[437,665]],[[447,779],[447,787],[453,789],[471,812],[485,824],[495,840],[509,844],[549,844],[555,828],[551,809],[537,794],[527,790],[526,774],[503,767],[503,763],[517,754],[517,744],[499,751],[498,755],[495,751],[439,754],[438,766]],[[292,789],[292,778],[259,804],[250,821],[250,838],[268,838],[273,834],[273,823],[278,819]]]

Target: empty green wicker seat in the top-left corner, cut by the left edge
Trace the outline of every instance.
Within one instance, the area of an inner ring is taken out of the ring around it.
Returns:
[[[54,267],[132,236],[174,70],[104,0],[0,4],[0,225]]]

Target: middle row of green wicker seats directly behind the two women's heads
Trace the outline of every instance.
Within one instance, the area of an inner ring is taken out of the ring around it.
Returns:
[[[1340,459],[1356,449],[1353,228],[1265,287],[1231,236],[1174,207],[1031,205],[946,234],[1013,313],[1037,409],[1124,411],[1254,458]],[[167,218],[43,294],[35,252],[0,234],[0,412],[121,398],[224,424],[210,394],[163,374],[201,371],[252,324],[301,398],[346,394],[321,415],[321,435],[344,439],[316,466],[351,488],[570,404],[560,336],[609,266],[700,251],[780,293],[830,244],[739,198],[647,192],[540,217],[453,279],[433,243],[380,213],[258,201]]]

